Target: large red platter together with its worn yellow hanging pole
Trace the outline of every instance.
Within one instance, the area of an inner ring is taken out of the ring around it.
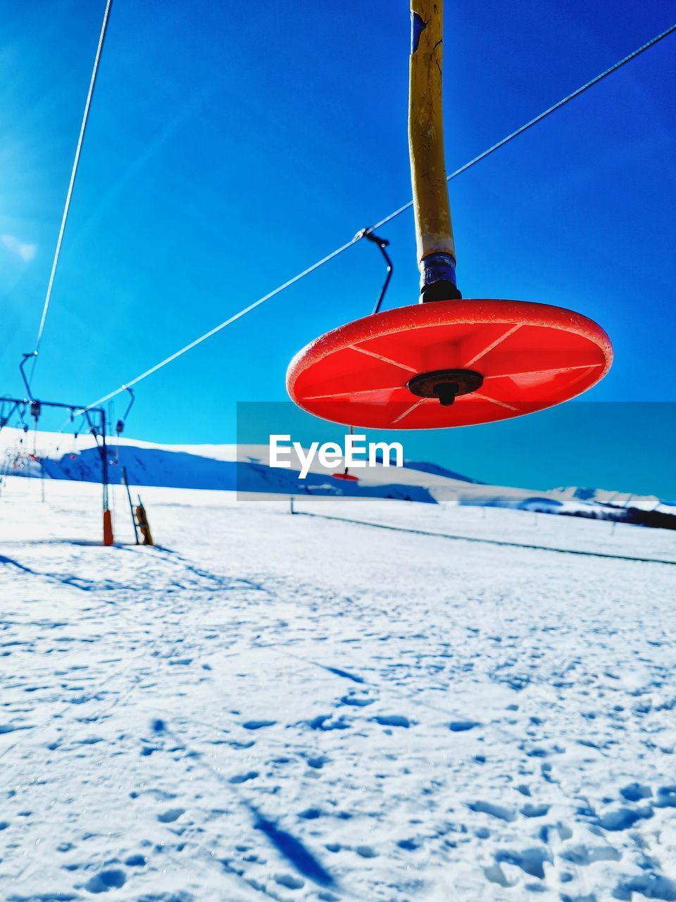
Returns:
[[[572,310],[461,298],[443,155],[442,48],[443,0],[411,0],[408,136],[420,303],[333,329],[294,357],[288,394],[322,419],[390,429],[509,419],[580,395],[612,364],[605,331]]]

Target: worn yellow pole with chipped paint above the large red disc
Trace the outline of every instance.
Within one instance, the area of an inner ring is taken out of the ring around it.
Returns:
[[[411,0],[408,148],[421,300],[461,297],[443,154],[443,0]]]

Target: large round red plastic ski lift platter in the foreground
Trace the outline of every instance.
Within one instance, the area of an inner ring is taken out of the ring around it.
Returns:
[[[287,390],[308,413],[355,427],[472,426],[575,398],[612,360],[604,330],[572,310],[522,300],[431,301],[316,338],[289,364]]]

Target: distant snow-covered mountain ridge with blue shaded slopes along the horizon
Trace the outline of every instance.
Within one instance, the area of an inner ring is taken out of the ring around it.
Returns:
[[[676,528],[676,505],[654,496],[603,489],[557,488],[546,491],[489,485],[441,465],[405,461],[359,471],[358,481],[333,478],[313,465],[306,479],[300,464],[269,466],[266,445],[158,445],[120,438],[109,446],[108,478],[121,483],[123,470],[132,485],[216,489],[270,495],[388,498],[400,501],[501,507],[600,520]],[[91,436],[62,433],[0,432],[2,472],[9,475],[100,482],[101,454]]]

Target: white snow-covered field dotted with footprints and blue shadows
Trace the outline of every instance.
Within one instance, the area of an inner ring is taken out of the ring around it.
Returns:
[[[3,899],[676,899],[676,567],[621,559],[673,533],[144,489],[159,547],[101,548],[45,491],[0,499]]]

